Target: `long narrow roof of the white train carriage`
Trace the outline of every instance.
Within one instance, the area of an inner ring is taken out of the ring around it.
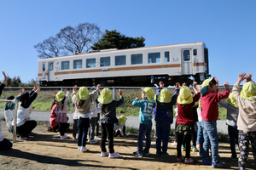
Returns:
[[[160,47],[167,47],[167,46],[179,46],[179,45],[186,45],[186,44],[203,44],[204,42],[190,42],[190,43],[177,43],[177,44],[170,44],[170,45],[160,45],[160,46],[151,46],[151,47],[143,47],[145,48],[160,48]],[[125,49],[118,49],[118,48],[110,48],[110,49],[102,49],[102,50],[96,50],[96,51],[90,51],[90,52],[85,52],[85,53],[79,53],[79,54],[72,54],[72,55],[66,55],[66,56],[59,56],[59,57],[54,57],[54,58],[64,58],[64,57],[75,57],[78,55],[87,55],[87,54],[98,54],[98,53],[106,53],[106,52],[113,52],[113,51],[124,51],[124,50],[134,50],[138,48],[125,48]],[[47,59],[54,59],[54,58],[47,58]],[[43,60],[43,59],[38,59]]]

